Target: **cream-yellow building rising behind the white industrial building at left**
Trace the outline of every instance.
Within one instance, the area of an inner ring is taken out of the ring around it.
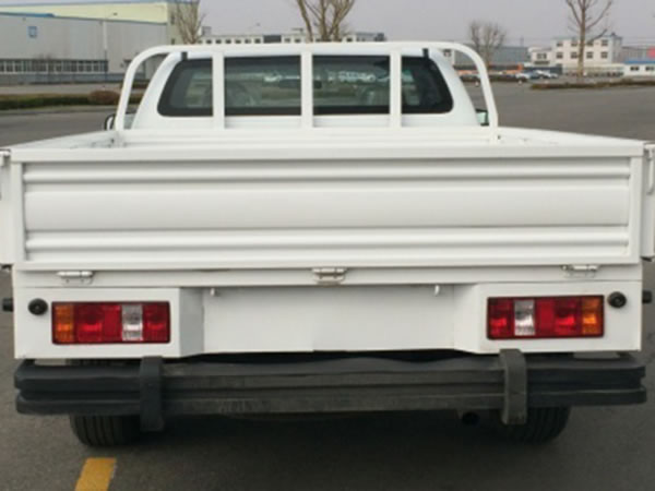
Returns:
[[[190,5],[188,0],[117,0],[107,2],[62,1],[55,3],[16,2],[0,5],[0,12],[48,14],[60,17],[133,21],[164,24],[166,37],[159,44],[180,44],[176,4]]]

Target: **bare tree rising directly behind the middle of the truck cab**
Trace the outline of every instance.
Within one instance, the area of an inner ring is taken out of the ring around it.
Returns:
[[[310,41],[340,41],[357,0],[294,0]]]

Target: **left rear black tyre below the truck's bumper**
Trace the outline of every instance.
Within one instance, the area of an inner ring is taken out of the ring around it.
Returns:
[[[87,446],[129,445],[141,435],[136,416],[71,416],[70,420],[73,433]]]

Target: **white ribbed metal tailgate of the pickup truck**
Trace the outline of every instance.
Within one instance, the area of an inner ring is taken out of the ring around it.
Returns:
[[[34,268],[619,264],[641,159],[270,158],[21,164]],[[485,153],[485,148],[480,148]],[[279,154],[279,155],[278,155]],[[555,148],[552,154],[556,154]],[[219,152],[216,152],[219,155]],[[237,155],[237,158],[235,158]]]

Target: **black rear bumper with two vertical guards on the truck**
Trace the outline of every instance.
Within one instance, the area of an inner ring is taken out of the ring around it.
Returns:
[[[140,415],[157,429],[177,415],[500,409],[508,423],[528,407],[640,404],[635,358],[464,356],[438,361],[347,358],[225,363],[144,359],[130,367],[23,362],[17,410],[38,415]]]

